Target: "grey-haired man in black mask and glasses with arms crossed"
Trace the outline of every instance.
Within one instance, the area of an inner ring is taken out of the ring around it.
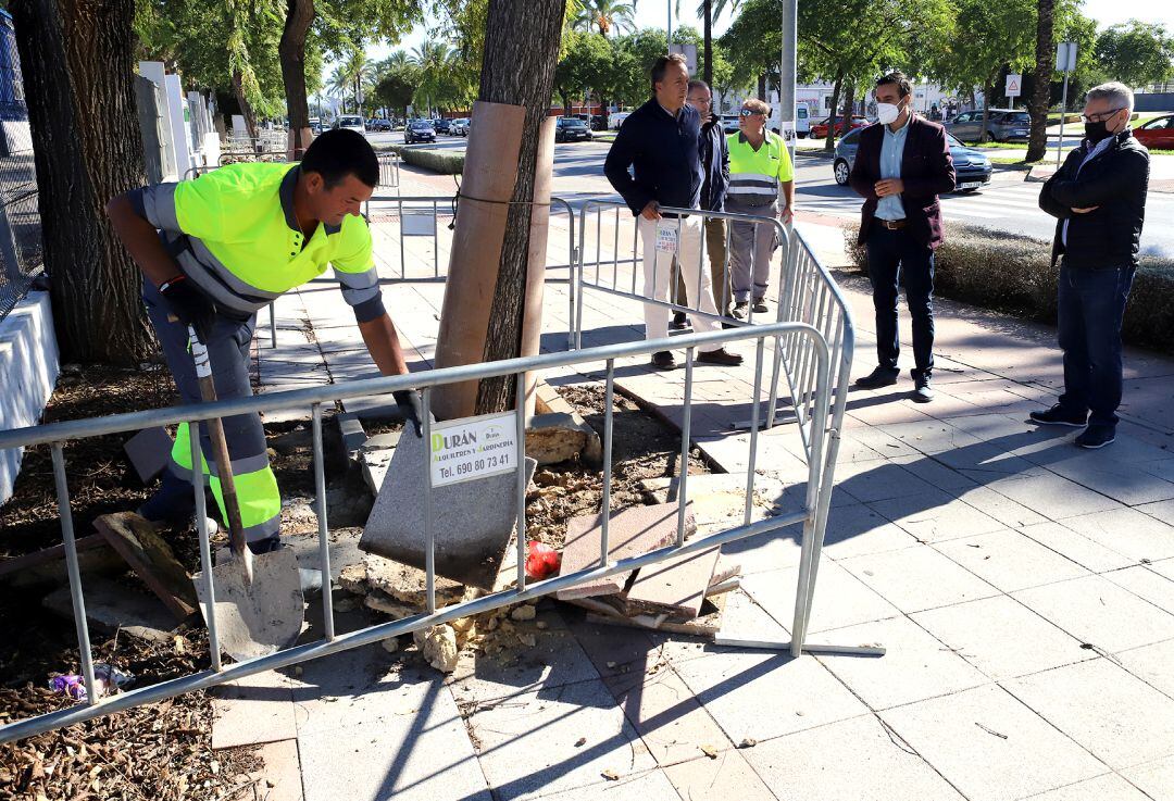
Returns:
[[[1041,425],[1082,428],[1080,447],[1116,437],[1121,404],[1121,318],[1138,267],[1146,216],[1149,152],[1133,137],[1133,92],[1102,83],[1085,95],[1085,140],[1039,193],[1057,218],[1052,263],[1060,262],[1057,314],[1064,395]]]

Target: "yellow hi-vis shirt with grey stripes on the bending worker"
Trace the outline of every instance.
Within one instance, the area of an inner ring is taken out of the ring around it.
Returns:
[[[221,308],[252,314],[330,264],[356,316],[373,319],[383,303],[366,221],[346,215],[342,226],[319,223],[304,241],[294,214],[298,173],[296,164],[230,164],[193,181],[146,187],[131,202]]]

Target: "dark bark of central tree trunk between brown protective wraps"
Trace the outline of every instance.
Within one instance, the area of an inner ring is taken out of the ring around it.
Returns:
[[[513,358],[521,354],[522,318],[526,310],[526,285],[532,256],[531,217],[537,213],[533,201],[538,171],[539,127],[549,110],[554,66],[559,58],[559,38],[566,0],[535,4],[490,0],[485,31],[485,58],[481,62],[479,100],[491,103],[522,106],[526,121],[518,156],[518,179],[513,204],[506,218],[505,241],[498,282],[490,307],[490,325],[485,337],[486,362]],[[547,159],[553,152],[547,154]],[[551,164],[545,166],[547,170]],[[549,186],[547,184],[547,193]],[[542,209],[549,217],[549,207]],[[546,247],[541,258],[545,267]],[[513,376],[487,378],[477,392],[477,413],[511,409],[514,402]]]

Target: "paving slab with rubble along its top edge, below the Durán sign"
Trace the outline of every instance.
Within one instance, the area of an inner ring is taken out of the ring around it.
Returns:
[[[513,624],[518,632],[534,635],[534,646],[502,652],[461,652],[448,688],[458,704],[481,704],[599,679],[578,640],[567,628],[540,631],[533,624]]]

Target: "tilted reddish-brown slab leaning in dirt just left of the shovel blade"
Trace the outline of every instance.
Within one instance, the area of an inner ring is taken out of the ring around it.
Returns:
[[[191,577],[150,523],[134,512],[120,512],[95,518],[94,527],[177,620],[195,613]]]

